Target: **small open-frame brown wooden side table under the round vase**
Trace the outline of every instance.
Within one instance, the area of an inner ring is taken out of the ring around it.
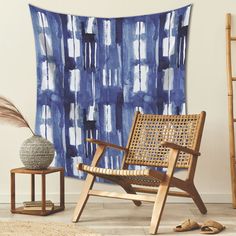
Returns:
[[[60,205],[54,206],[53,210],[46,210],[46,175],[60,172]],[[65,188],[64,188],[64,169],[50,167],[45,170],[29,170],[26,168],[16,168],[11,173],[11,212],[28,215],[46,216],[65,209]],[[27,211],[24,207],[16,208],[15,204],[15,174],[31,175],[31,201],[35,201],[35,175],[41,175],[42,178],[42,210]]]

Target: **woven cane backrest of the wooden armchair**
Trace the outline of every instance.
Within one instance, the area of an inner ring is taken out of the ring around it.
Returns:
[[[173,142],[199,151],[205,112],[194,115],[151,115],[137,112],[127,144],[125,165],[168,166],[169,148],[162,141]],[[177,168],[188,168],[190,154],[180,152]]]

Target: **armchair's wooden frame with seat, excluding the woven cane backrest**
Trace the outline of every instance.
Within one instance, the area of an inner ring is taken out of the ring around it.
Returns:
[[[162,147],[167,147],[169,149],[169,155],[168,155],[169,161],[168,161],[167,171],[165,173],[152,169],[128,170],[129,163],[127,163],[127,161],[125,160],[130,152],[131,139],[135,132],[135,127],[139,114],[140,113],[137,112],[135,115],[128,143],[125,148],[99,140],[93,140],[93,139],[87,140],[89,142],[96,143],[98,146],[90,167],[85,166],[83,164],[78,165],[78,169],[86,171],[88,175],[84,184],[84,188],[80,194],[79,201],[74,211],[73,222],[77,222],[79,220],[89,196],[132,200],[136,206],[140,206],[142,201],[153,202],[154,207],[149,229],[150,234],[157,233],[167,195],[192,198],[202,214],[205,214],[207,212],[207,209],[194,185],[194,174],[197,164],[197,157],[200,155],[199,148],[205,121],[205,115],[206,115],[205,112],[201,112],[201,114],[198,115],[199,122],[196,128],[197,138],[194,141],[194,149],[168,141],[161,142]],[[105,149],[108,147],[118,149],[125,153],[121,170],[117,171],[117,170],[103,169],[97,167],[99,159],[102,157]],[[180,152],[190,154],[187,178],[185,180],[173,176],[175,168],[177,166],[177,161]],[[107,175],[104,175],[105,173]],[[92,187],[96,176],[103,177],[117,183],[126,191],[126,193],[93,190]],[[159,181],[158,190],[144,187],[133,187],[129,182],[126,182],[121,178],[126,176],[129,177],[142,176],[158,180]],[[169,191],[170,187],[176,187],[182,191]],[[148,195],[147,194],[138,195],[137,192],[148,193]],[[156,195],[150,195],[150,193]]]

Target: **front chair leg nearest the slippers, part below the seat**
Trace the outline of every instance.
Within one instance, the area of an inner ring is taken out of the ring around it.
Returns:
[[[152,211],[150,234],[156,234],[161,220],[162,212],[165,206],[170,183],[161,183],[158,189],[157,197]]]

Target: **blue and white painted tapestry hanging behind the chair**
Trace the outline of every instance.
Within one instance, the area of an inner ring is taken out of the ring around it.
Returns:
[[[95,145],[125,146],[134,112],[184,114],[191,6],[164,13],[98,18],[30,6],[37,59],[36,133],[54,143],[55,166],[85,178]],[[120,168],[109,149],[100,166]],[[140,167],[136,167],[140,168]],[[99,180],[102,181],[102,180]]]

